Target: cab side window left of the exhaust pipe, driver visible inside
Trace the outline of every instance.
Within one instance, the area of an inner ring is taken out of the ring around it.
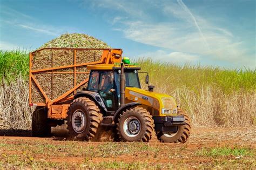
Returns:
[[[87,90],[98,92],[100,97],[102,97],[108,111],[114,111],[116,109],[113,89],[113,71],[91,71]]]

